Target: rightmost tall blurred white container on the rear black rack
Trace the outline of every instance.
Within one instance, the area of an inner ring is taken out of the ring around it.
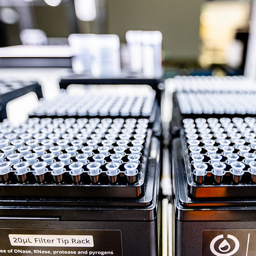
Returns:
[[[162,75],[162,33],[160,31],[142,32],[143,76],[147,78]]]

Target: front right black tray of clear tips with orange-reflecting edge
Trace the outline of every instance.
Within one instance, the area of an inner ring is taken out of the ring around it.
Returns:
[[[181,141],[189,193],[256,197],[255,118],[184,119]]]

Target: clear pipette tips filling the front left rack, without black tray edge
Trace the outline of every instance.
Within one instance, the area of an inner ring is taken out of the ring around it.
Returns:
[[[131,177],[140,171],[147,123],[133,118],[30,118],[12,126],[4,120],[0,178],[43,182],[48,175],[50,182],[102,184],[104,176],[106,184],[136,182]]]

